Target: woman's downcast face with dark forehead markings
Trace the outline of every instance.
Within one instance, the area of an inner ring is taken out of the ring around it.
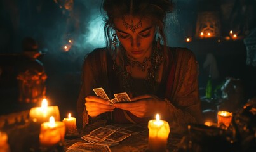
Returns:
[[[150,56],[156,27],[149,20],[140,20],[131,15],[114,19],[116,35],[128,56],[143,60]]]

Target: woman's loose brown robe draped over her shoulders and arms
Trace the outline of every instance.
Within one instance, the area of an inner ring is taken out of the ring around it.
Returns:
[[[192,51],[184,48],[170,48],[169,62],[164,67],[156,96],[168,103],[168,122],[178,124],[196,123],[201,120],[201,107],[198,93],[198,63]],[[112,58],[106,48],[95,49],[84,60],[81,91],[77,100],[77,126],[84,127],[99,118],[113,123],[144,123],[150,117],[138,118],[129,111],[116,108],[112,113],[91,118],[86,112],[85,97],[95,95],[93,88],[103,87],[109,98],[119,92],[120,84],[112,68]]]

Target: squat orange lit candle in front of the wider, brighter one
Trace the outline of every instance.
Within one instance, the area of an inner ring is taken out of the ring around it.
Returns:
[[[64,122],[55,122],[53,116],[49,122],[41,124],[39,141],[41,146],[51,147],[60,142],[64,142],[65,124]]]

